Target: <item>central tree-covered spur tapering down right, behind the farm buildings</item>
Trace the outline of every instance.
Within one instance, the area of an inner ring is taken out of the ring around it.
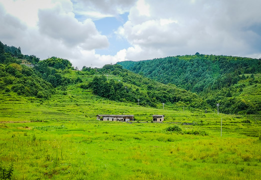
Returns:
[[[185,106],[205,108],[207,103],[195,93],[180,89],[172,84],[162,84],[139,74],[120,68],[119,65],[105,65],[97,69],[98,73],[110,74],[94,76],[89,86],[93,93],[110,100],[137,102],[143,106],[156,107],[162,102],[175,104],[183,102]],[[115,73],[116,72],[116,73]],[[117,75],[114,75],[117,74]],[[115,80],[121,79],[119,80]],[[121,82],[122,81],[122,82]],[[88,88],[85,84],[82,88]]]

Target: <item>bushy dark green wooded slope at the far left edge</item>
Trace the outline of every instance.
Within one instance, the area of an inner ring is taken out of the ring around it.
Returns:
[[[77,79],[62,77],[59,72],[60,69],[72,68],[68,60],[51,57],[39,61],[34,55],[21,54],[19,49],[0,42],[0,90],[47,99],[55,93],[55,87],[64,89],[66,85],[77,82]]]

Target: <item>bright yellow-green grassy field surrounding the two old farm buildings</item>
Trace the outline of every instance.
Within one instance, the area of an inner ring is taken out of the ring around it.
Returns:
[[[260,116],[174,109],[109,101],[75,86],[48,100],[3,93],[0,167],[13,167],[11,179],[259,179]],[[103,113],[136,120],[96,120]],[[165,121],[151,123],[152,114]],[[208,135],[166,132],[173,124]]]

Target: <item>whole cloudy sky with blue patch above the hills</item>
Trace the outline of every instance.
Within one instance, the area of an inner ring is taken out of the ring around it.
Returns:
[[[0,41],[74,67],[194,54],[261,57],[261,0],[0,0]]]

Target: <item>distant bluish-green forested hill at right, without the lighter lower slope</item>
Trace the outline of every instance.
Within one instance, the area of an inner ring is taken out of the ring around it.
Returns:
[[[261,72],[261,59],[199,53],[117,63],[135,73],[192,92],[221,89],[237,83],[241,74]]]

